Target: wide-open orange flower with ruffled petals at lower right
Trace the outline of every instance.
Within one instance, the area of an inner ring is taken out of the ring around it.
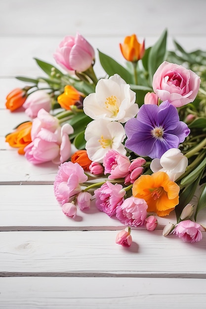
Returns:
[[[179,202],[179,186],[169,179],[165,172],[141,175],[132,188],[134,197],[143,198],[148,204],[148,212],[158,216],[168,215]]]

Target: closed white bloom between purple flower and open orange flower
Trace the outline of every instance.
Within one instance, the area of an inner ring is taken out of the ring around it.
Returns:
[[[165,172],[171,181],[175,181],[184,174],[187,165],[187,157],[179,149],[171,148],[160,159],[152,160],[150,168],[154,173],[158,171]]]

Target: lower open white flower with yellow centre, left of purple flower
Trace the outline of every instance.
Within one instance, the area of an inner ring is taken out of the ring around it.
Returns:
[[[86,151],[90,160],[103,162],[103,157],[114,149],[120,154],[126,154],[122,142],[125,138],[124,127],[117,121],[104,119],[91,121],[84,133]]]

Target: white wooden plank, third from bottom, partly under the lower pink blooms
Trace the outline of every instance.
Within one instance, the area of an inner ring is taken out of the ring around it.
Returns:
[[[115,217],[97,210],[94,201],[88,210],[78,208],[75,219],[66,217],[55,199],[52,185],[0,186],[0,192],[0,231],[123,229]],[[201,222],[206,224],[206,211],[201,214]],[[169,222],[176,223],[174,212],[165,218],[158,217],[157,228],[163,229]]]

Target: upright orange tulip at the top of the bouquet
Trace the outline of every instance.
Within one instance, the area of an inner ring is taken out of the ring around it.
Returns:
[[[128,36],[123,44],[120,43],[120,49],[127,61],[136,62],[144,56],[144,41],[140,44],[136,35]]]

